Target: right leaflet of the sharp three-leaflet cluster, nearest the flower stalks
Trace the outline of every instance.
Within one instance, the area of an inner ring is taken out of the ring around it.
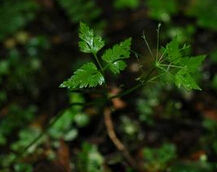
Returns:
[[[126,39],[120,44],[116,44],[112,49],[106,50],[102,59],[107,63],[108,68],[114,73],[119,74],[126,68],[124,59],[130,57],[131,38]]]

